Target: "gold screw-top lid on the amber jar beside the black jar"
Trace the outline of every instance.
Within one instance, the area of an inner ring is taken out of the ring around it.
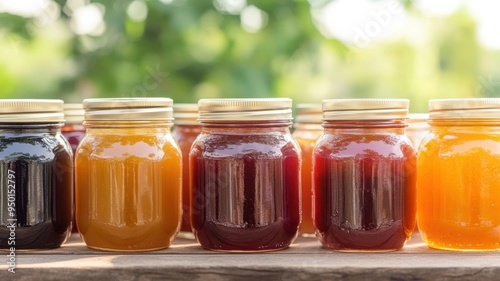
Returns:
[[[83,101],[85,121],[172,121],[169,98],[94,98]]]

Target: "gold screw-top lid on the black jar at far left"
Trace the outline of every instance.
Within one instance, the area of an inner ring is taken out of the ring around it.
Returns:
[[[0,123],[64,122],[63,104],[57,99],[0,100]]]

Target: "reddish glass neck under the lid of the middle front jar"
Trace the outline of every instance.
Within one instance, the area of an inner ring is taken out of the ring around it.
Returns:
[[[289,134],[291,121],[200,122],[202,133],[209,134]]]

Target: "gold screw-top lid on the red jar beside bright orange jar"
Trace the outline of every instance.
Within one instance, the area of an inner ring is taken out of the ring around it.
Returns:
[[[323,120],[390,120],[408,118],[407,99],[331,99],[323,101]]]

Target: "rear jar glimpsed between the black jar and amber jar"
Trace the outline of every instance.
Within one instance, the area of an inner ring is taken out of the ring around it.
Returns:
[[[64,119],[66,119],[66,122],[64,123],[64,126],[61,128],[61,132],[71,145],[71,149],[74,154],[76,148],[78,147],[78,144],[80,144],[80,141],[83,139],[83,136],[85,135],[85,127],[83,126],[83,117],[85,115],[85,110],[83,110],[83,105],[81,103],[65,103],[63,112],[64,112]],[[74,195],[75,193],[73,192],[73,208],[75,204]],[[78,227],[76,226],[76,219],[74,216],[73,216],[73,228],[71,232],[73,233],[78,232]]]

